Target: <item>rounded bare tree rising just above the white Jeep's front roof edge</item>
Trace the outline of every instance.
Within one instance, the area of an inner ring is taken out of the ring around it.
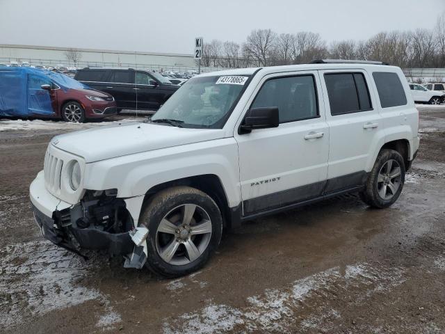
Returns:
[[[270,29],[257,29],[248,35],[245,42],[245,51],[247,51],[259,65],[269,65],[268,58],[273,51],[277,34]]]

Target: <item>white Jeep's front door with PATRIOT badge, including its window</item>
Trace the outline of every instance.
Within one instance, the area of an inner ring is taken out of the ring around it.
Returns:
[[[318,73],[270,74],[259,87],[246,109],[277,106],[280,126],[236,129],[244,215],[320,196],[327,175],[330,134]]]

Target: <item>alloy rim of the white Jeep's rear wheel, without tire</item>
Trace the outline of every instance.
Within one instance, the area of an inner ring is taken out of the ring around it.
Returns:
[[[380,168],[377,178],[378,194],[382,200],[390,200],[401,186],[401,166],[394,159],[388,160]]]

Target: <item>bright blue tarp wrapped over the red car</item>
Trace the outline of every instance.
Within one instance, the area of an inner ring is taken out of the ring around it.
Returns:
[[[0,116],[54,115],[52,102],[56,90],[44,90],[43,84],[68,90],[88,86],[66,75],[33,67],[0,67]]]

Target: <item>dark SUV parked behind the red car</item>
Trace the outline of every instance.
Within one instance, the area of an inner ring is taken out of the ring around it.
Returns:
[[[113,95],[118,111],[157,110],[179,88],[159,73],[132,68],[86,67],[74,79]]]

